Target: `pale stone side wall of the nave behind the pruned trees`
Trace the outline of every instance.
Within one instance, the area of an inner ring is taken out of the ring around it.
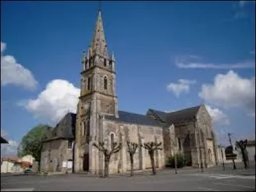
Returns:
[[[134,143],[144,143],[150,141],[157,141],[163,143],[163,128],[152,127],[148,125],[136,125],[125,124],[122,122],[115,122],[110,120],[103,121],[103,138],[106,146],[110,148],[111,134],[114,134],[114,140],[117,143],[122,143],[123,147],[118,153],[111,156],[109,162],[109,173],[124,173],[131,168],[129,152],[127,152],[127,140]],[[163,145],[161,146],[163,147]],[[104,158],[100,158],[100,162],[104,161]],[[159,168],[164,166],[164,150],[157,151],[155,153],[155,163]],[[100,167],[101,169],[104,166]],[[100,169],[99,168],[99,169]],[[150,157],[148,156],[145,148],[138,147],[134,154],[134,170],[145,170],[145,168],[151,168]]]

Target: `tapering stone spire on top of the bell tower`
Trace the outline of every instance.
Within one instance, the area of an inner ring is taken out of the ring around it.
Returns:
[[[98,18],[95,25],[95,31],[92,39],[92,52],[101,56],[108,57],[108,50],[106,45],[106,39],[104,35],[103,22],[101,17],[101,9],[98,10]]]

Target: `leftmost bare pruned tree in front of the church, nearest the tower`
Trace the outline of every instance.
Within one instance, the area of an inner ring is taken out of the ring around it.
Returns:
[[[107,147],[104,147],[104,142],[99,142],[99,145],[96,143],[93,143],[93,146],[98,148],[100,151],[104,154],[104,162],[105,162],[105,168],[104,168],[104,177],[108,177],[109,175],[109,160],[112,154],[117,153],[122,148],[122,143],[113,143],[111,146],[111,150],[109,150]]]

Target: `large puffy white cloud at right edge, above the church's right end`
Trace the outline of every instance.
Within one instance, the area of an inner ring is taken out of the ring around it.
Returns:
[[[255,113],[255,77],[243,79],[234,71],[217,74],[213,84],[202,84],[200,98],[223,107],[243,107]]]

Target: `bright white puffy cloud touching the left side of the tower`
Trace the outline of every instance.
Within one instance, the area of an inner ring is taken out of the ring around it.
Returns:
[[[76,113],[80,89],[66,80],[54,79],[49,82],[36,99],[24,100],[20,105],[37,118],[58,122],[68,112]]]

